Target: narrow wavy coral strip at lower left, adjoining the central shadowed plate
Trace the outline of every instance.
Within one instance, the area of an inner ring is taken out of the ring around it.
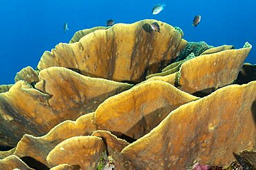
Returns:
[[[57,125],[48,134],[34,137],[25,134],[18,142],[17,147],[10,151],[0,152],[0,158],[14,154],[15,156],[35,158],[39,162],[48,165],[46,157],[48,153],[64,140],[82,135],[91,135],[97,130],[93,123],[94,114],[86,114],[77,118],[75,122],[66,120]]]

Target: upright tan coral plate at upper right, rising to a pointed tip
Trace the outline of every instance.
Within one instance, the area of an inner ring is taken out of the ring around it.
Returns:
[[[237,78],[251,47],[205,54],[186,61],[179,70],[180,77],[176,82],[179,89],[190,94],[202,90],[210,93],[231,84]]]

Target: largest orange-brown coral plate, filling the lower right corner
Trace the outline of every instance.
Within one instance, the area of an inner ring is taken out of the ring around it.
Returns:
[[[223,167],[231,164],[232,152],[255,145],[254,113],[248,109],[255,102],[255,90],[256,81],[230,85],[182,105],[149,134],[122,149],[121,155],[131,169],[186,169],[194,160]]]

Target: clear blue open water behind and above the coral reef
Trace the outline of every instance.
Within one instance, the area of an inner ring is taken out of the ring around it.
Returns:
[[[165,3],[165,9],[152,15],[152,7]],[[86,0],[1,0],[0,85],[14,83],[17,72],[28,65],[36,67],[46,50],[68,42],[77,30],[116,23],[157,19],[183,29],[183,39],[205,41],[210,45],[243,47],[253,45],[246,62],[256,63],[256,1],[86,1]],[[192,20],[202,16],[194,28]],[[68,32],[63,24],[68,23]]]

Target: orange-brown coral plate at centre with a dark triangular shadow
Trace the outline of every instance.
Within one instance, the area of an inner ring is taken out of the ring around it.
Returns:
[[[163,81],[149,81],[105,100],[95,111],[95,123],[116,136],[138,139],[170,111],[196,99]]]

